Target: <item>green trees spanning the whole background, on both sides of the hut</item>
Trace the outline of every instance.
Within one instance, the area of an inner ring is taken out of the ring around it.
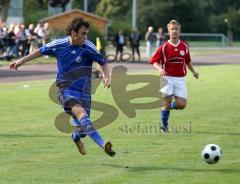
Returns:
[[[65,0],[51,0],[51,2]],[[2,18],[6,19],[9,0],[1,0]],[[50,0],[24,0],[24,22],[36,23],[48,16]],[[170,19],[182,24],[183,32],[225,33],[229,30],[233,38],[240,40],[240,1],[236,0],[138,0],[137,26],[142,34],[149,25],[164,27]],[[73,8],[83,9],[83,0],[73,0]],[[88,0],[88,10],[110,19],[109,33],[117,30],[131,31],[132,0]],[[225,20],[225,21],[224,21]],[[226,22],[227,20],[227,22]]]

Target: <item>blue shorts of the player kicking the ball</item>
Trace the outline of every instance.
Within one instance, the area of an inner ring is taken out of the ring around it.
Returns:
[[[79,104],[84,108],[88,116],[90,116],[91,108],[90,94],[84,94],[76,90],[58,88],[57,96],[61,105],[64,108],[64,111],[69,115],[71,116],[73,115],[72,107],[76,104]]]

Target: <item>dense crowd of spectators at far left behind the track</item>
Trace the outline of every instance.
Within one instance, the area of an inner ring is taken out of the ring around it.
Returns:
[[[48,23],[9,24],[0,21],[0,60],[11,60],[28,55],[49,42]]]

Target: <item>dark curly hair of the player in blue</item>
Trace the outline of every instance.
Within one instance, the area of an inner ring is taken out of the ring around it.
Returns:
[[[81,27],[90,28],[88,21],[85,21],[82,17],[75,17],[67,26],[67,35],[71,35],[71,31],[78,31]]]

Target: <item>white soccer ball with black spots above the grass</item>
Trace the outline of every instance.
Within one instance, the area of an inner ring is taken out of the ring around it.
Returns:
[[[202,158],[208,164],[217,163],[222,156],[221,148],[216,144],[208,144],[202,150]]]

